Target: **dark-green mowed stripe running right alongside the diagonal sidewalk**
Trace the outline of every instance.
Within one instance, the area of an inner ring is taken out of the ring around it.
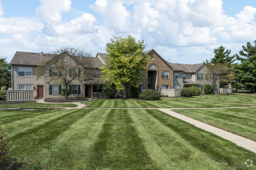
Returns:
[[[148,110],[149,115],[160,121],[164,126],[169,127],[176,134],[182,137],[194,148],[204,152],[214,161],[227,163],[228,166],[235,169],[244,169],[246,157],[255,159],[255,153],[250,152],[236,144],[227,141],[210,132],[186,123],[180,119],[174,118],[163,112],[152,112]]]

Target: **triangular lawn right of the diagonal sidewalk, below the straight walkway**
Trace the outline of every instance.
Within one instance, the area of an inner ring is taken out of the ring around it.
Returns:
[[[256,141],[256,108],[173,111]]]

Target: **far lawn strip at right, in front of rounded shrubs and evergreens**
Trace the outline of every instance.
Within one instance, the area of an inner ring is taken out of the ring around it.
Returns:
[[[204,94],[202,96],[193,96],[192,98],[175,97],[173,99],[180,100],[196,100],[196,101],[217,101],[227,103],[243,103],[256,105],[256,97],[241,94]]]

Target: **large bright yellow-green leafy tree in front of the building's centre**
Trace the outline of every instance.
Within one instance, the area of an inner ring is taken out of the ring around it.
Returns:
[[[111,43],[106,44],[109,57],[101,68],[106,73],[102,79],[114,83],[117,90],[124,90],[124,98],[129,83],[138,87],[139,79],[146,76],[149,56],[143,52],[145,46],[143,40],[136,42],[130,35],[126,38],[114,37]]]

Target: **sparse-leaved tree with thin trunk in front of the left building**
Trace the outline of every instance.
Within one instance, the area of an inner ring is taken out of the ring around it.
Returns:
[[[65,100],[68,97],[68,87],[72,80],[82,82],[92,77],[91,53],[82,48],[55,49],[46,54],[48,61],[43,61],[36,68],[37,79],[45,78],[46,81],[59,83],[66,89]],[[88,69],[85,69],[88,68]]]

